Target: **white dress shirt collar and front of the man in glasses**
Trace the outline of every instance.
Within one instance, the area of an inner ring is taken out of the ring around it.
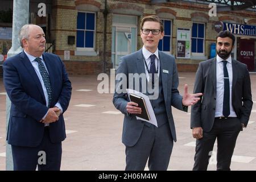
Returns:
[[[151,55],[155,55],[155,69],[156,71],[158,72],[158,77],[159,77],[159,73],[160,73],[160,61],[159,61],[159,55],[158,55],[158,48],[156,49],[156,51],[154,53],[148,51],[144,46],[142,47],[142,54],[143,54],[143,57],[144,57],[144,60],[146,61],[146,64],[147,64],[147,67],[146,65],[144,64],[144,67],[145,67],[145,73],[146,73],[146,76],[147,76],[147,81],[150,80],[150,75],[148,74],[148,71],[150,70],[150,62],[151,62],[151,59],[150,59],[150,56]],[[147,68],[148,68],[148,71],[147,71]]]

